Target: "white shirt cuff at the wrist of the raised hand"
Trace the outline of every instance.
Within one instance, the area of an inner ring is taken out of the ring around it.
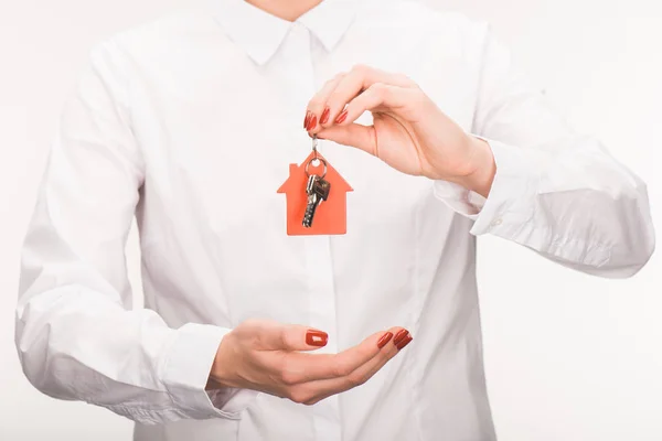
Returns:
[[[491,233],[512,238],[533,217],[533,201],[546,155],[481,139],[492,149],[496,164],[488,197],[446,181],[435,181],[435,195],[456,213],[474,220],[472,235]]]

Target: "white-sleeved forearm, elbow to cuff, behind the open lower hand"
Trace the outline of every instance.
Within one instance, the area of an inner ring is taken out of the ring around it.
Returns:
[[[42,392],[141,423],[232,417],[204,391],[222,329],[173,330],[153,311],[126,311],[84,286],[26,295],[17,346],[26,377]]]

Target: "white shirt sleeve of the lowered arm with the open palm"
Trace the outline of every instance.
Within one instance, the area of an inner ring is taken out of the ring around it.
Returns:
[[[252,391],[207,394],[229,331],[130,310],[125,246],[145,180],[119,49],[92,51],[67,100],[22,250],[17,348],[42,392],[141,423],[238,419]]]

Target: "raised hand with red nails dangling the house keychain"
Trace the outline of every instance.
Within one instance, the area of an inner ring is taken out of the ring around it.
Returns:
[[[354,123],[366,110],[373,126]],[[401,172],[483,196],[494,179],[488,143],[465,133],[404,75],[361,65],[337,75],[310,100],[303,125],[311,136],[356,147]]]

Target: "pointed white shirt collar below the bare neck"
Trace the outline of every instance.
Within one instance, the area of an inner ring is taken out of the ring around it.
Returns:
[[[216,20],[232,41],[257,63],[266,63],[278,50],[293,23],[305,25],[327,51],[344,35],[359,0],[323,0],[295,22],[271,15],[244,0],[212,0]]]

